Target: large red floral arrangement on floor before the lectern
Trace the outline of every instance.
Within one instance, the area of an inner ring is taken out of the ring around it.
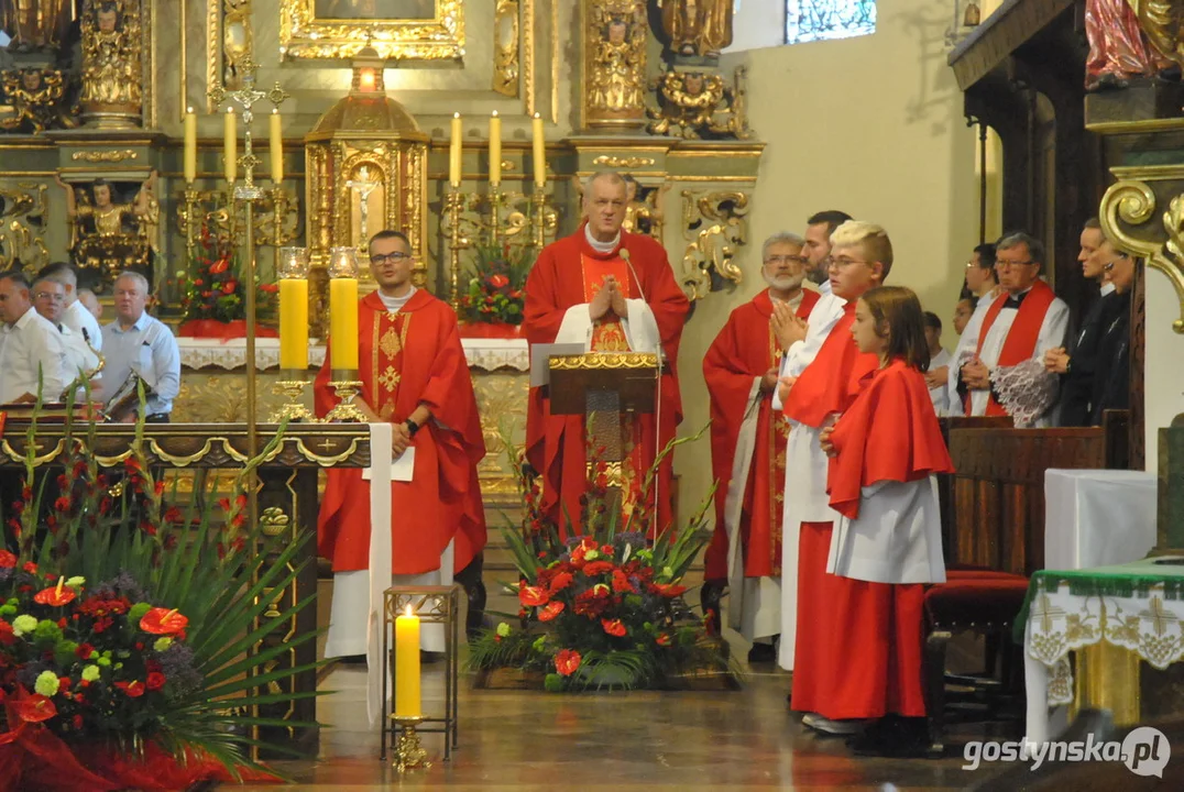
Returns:
[[[645,476],[641,504],[650,502],[662,459],[702,433],[662,451]],[[632,509],[624,521],[609,509],[604,462],[593,463],[578,532],[570,524],[561,533],[546,520],[538,481],[517,472],[526,516],[521,530],[503,533],[520,574],[519,623],[487,631],[471,646],[472,664],[542,671],[552,691],[661,688],[689,671],[733,671],[707,620],[682,601],[683,577],[707,542],[714,488],[686,526],[664,527],[649,541],[646,509]]]

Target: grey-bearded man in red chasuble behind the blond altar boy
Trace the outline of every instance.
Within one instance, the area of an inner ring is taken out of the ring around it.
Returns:
[[[765,240],[761,276],[768,289],[732,311],[703,359],[718,482],[715,533],[703,558],[703,610],[719,616],[720,594],[728,587],[728,623],[753,642],[749,663],[777,659],[773,639],[781,631],[781,490],[790,427],[773,410],[773,392],[790,346],[781,330],[818,302],[817,291],[802,288],[803,245],[792,233]]]

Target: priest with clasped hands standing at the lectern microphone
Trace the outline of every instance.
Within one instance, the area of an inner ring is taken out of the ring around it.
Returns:
[[[522,327],[532,343],[583,343],[590,352],[664,353],[657,414],[629,419],[626,458],[629,485],[625,509],[632,509],[657,452],[674,438],[682,420],[676,361],[686,295],[670,270],[665,251],[654,238],[628,233],[626,185],[618,173],[591,176],[584,189],[585,223],[572,236],[543,249],[526,284]],[[541,388],[530,391],[527,412],[527,461],[543,478],[542,509],[564,524],[580,515],[579,497],[587,489],[586,431],[583,416],[552,416]],[[657,479],[657,528],[670,521],[671,459]],[[650,492],[652,498],[655,492]],[[655,514],[652,504],[645,504]]]

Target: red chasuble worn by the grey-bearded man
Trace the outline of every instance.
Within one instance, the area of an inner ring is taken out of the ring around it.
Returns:
[[[797,315],[805,318],[818,292],[803,290]],[[712,471],[715,490],[715,533],[703,555],[707,580],[728,578],[728,532],[725,510],[732,483],[740,424],[748,410],[753,379],[777,368],[784,352],[777,343],[768,290],[740,305],[728,317],[707,356],[703,379],[712,398]],[[781,574],[781,510],[785,487],[785,440],[790,427],[773,416],[772,392],[762,395],[757,414],[757,438],[740,519],[745,577]]]

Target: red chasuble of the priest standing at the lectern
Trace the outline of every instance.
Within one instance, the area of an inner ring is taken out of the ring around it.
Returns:
[[[632,269],[622,258],[622,250],[629,251]],[[641,478],[657,457],[657,451],[674,438],[675,427],[682,420],[676,361],[689,303],[674,279],[670,262],[662,246],[649,236],[623,231],[617,247],[607,253],[598,253],[587,243],[581,225],[575,233],[547,245],[540,253],[526,284],[522,328],[530,343],[554,343],[567,309],[590,302],[609,275],[623,284],[626,297],[644,296],[654,311],[662,336],[662,348],[669,361],[662,369],[661,437],[655,437],[655,416],[638,416],[633,421],[636,451],[625,462],[632,462],[635,477]],[[592,341],[593,349],[628,348],[619,318],[612,316],[611,311],[593,328]],[[527,461],[543,477],[543,511],[560,526],[564,524],[560,504],[566,504],[567,514],[572,520],[578,520],[579,497],[587,489],[584,424],[583,416],[552,416],[551,401],[543,398],[541,388],[530,389],[526,430]],[[673,459],[668,459],[659,471],[659,527],[665,527],[671,516],[671,463]]]

